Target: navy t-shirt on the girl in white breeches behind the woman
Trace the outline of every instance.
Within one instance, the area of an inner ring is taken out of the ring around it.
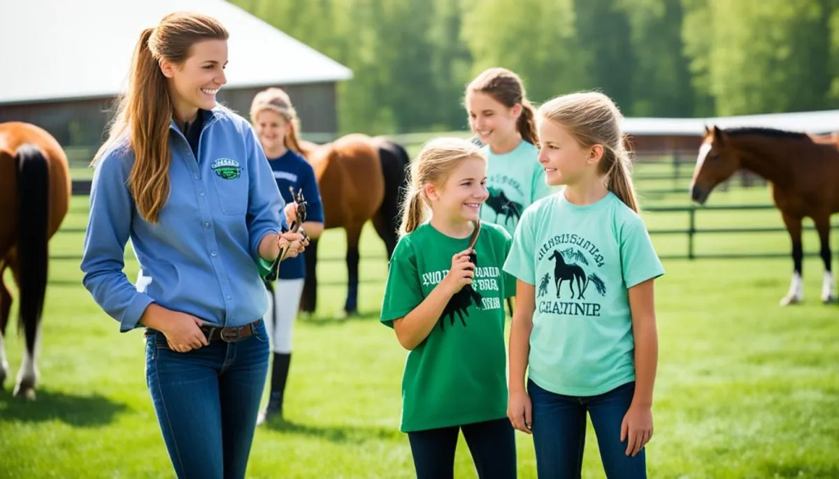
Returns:
[[[277,182],[279,193],[283,195],[285,203],[294,201],[289,187],[294,188],[294,191],[303,188],[303,198],[306,201],[306,221],[323,222],[320,191],[317,188],[315,170],[312,169],[309,162],[299,153],[289,150],[279,158],[268,158],[268,164],[274,171],[274,180]],[[306,252],[303,253],[303,255],[307,254]],[[305,278],[306,267],[303,255],[283,260],[279,264],[278,278],[281,280]]]

